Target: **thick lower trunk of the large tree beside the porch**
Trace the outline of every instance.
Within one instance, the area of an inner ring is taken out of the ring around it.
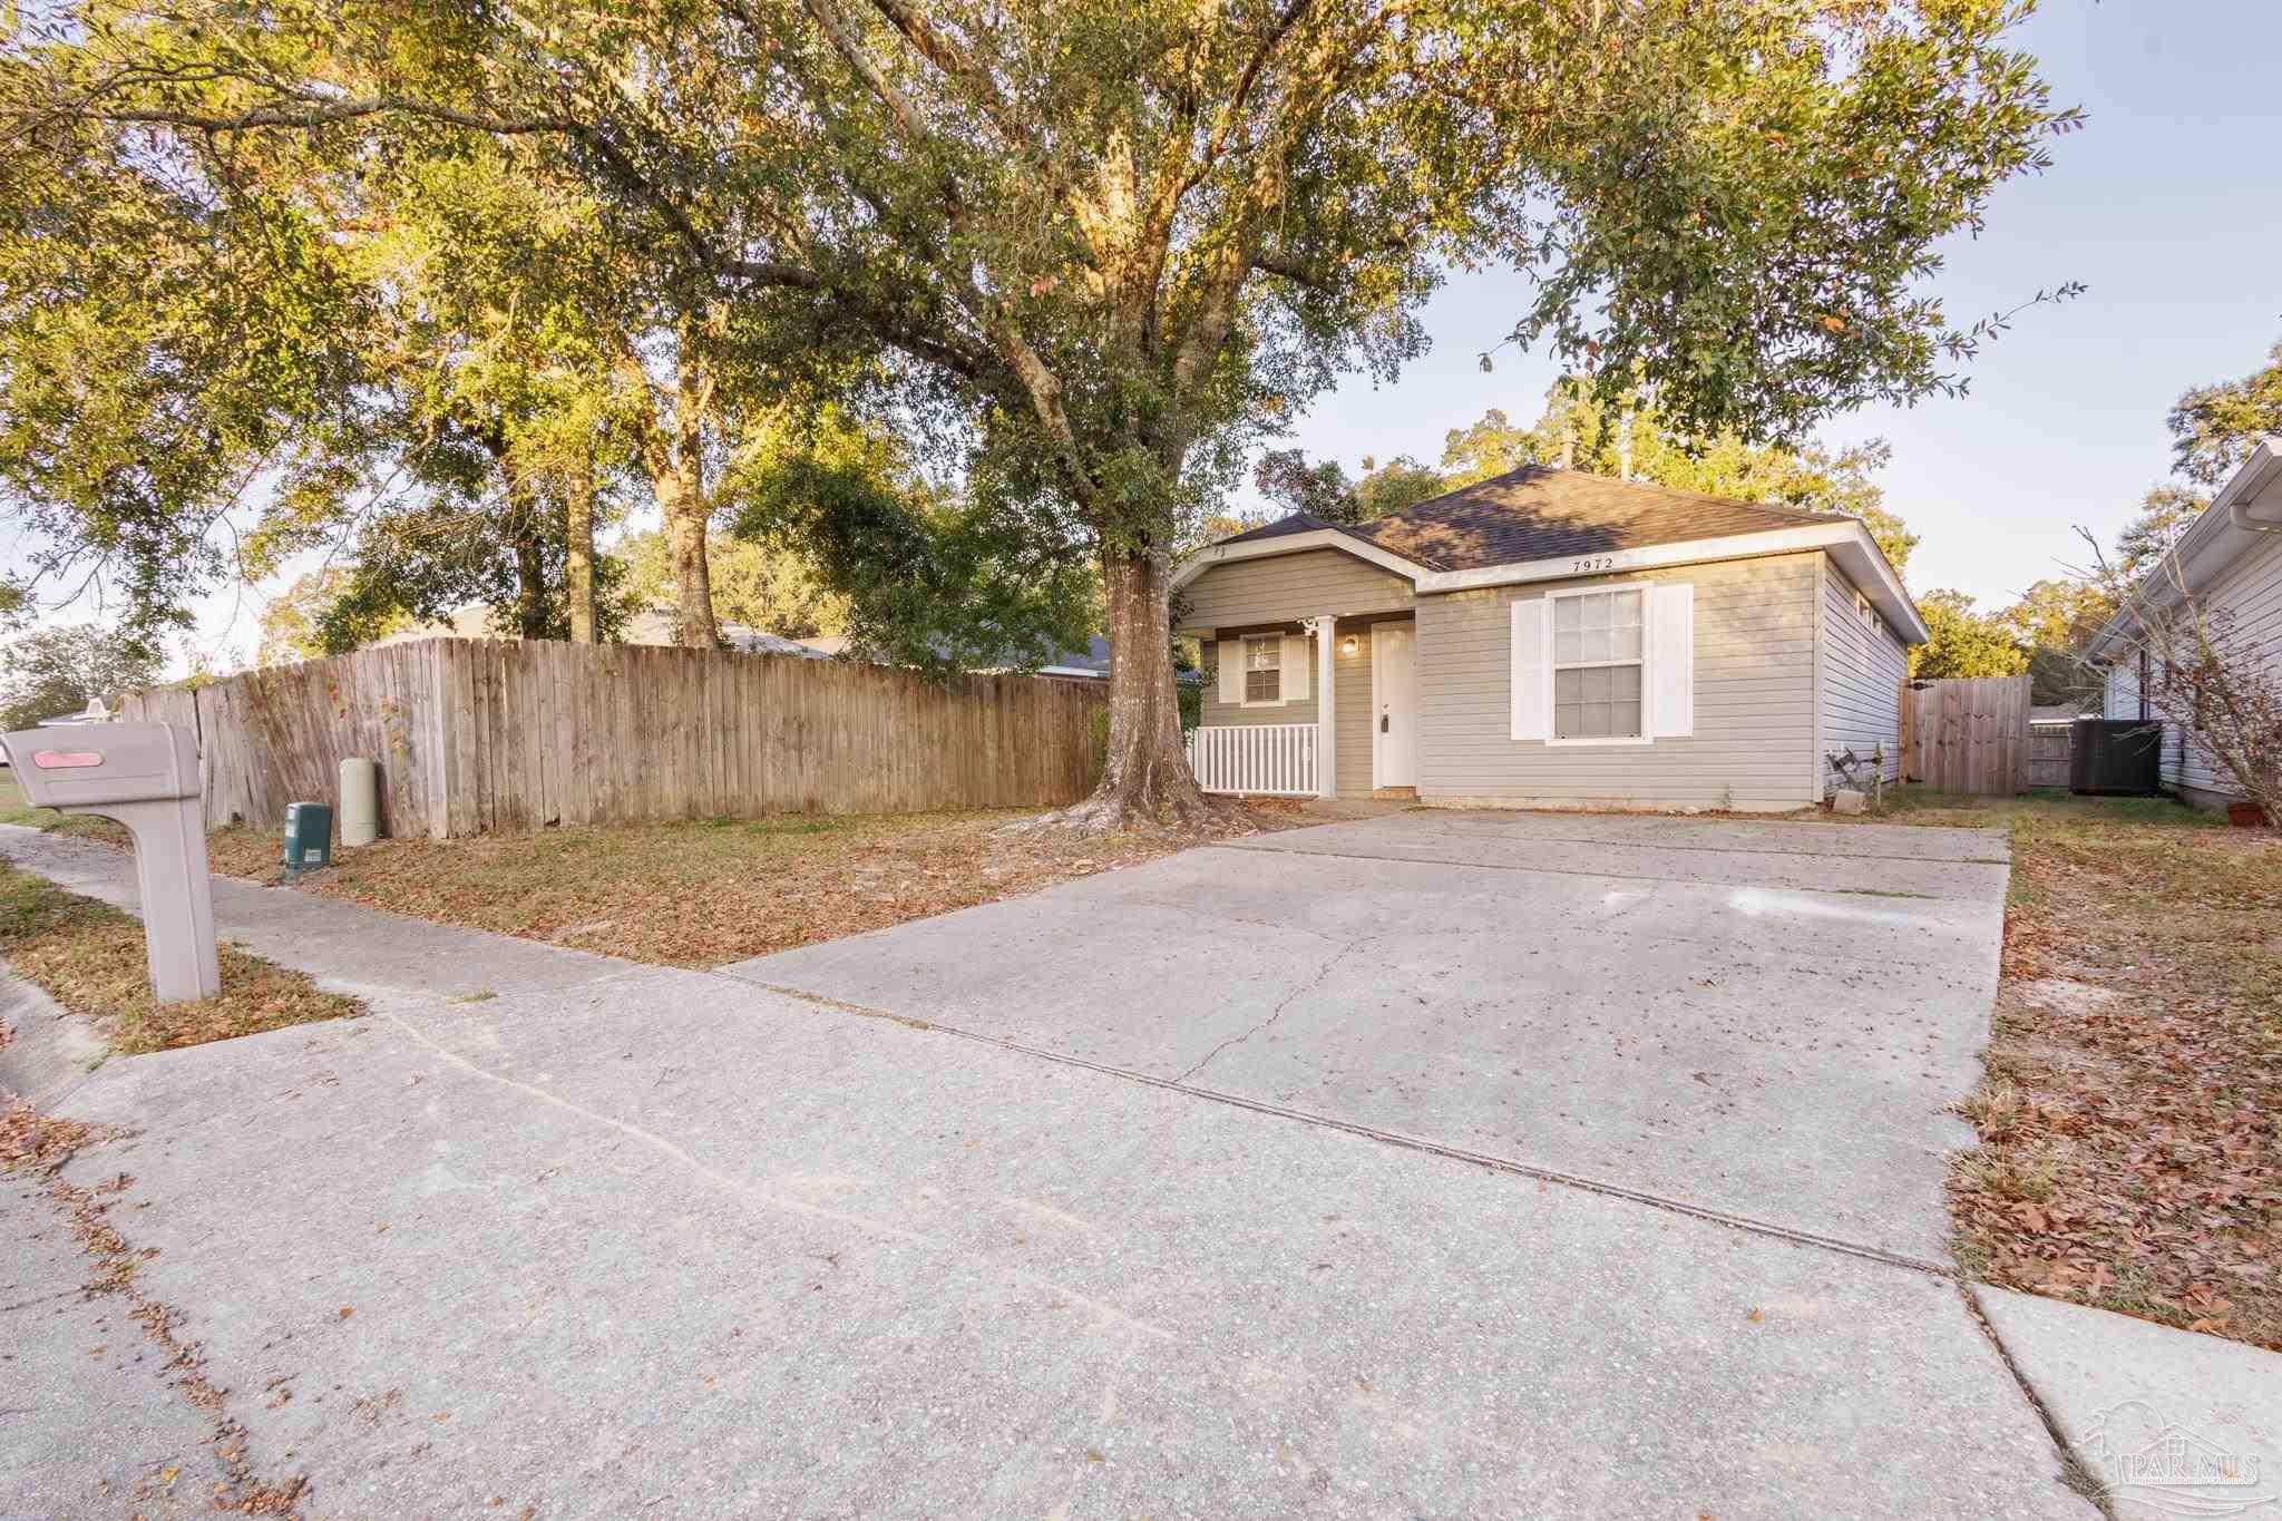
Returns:
[[[1225,828],[1232,810],[1205,796],[1180,743],[1164,552],[1104,554],[1109,591],[1109,757],[1093,796],[1041,823],[1093,830]]]

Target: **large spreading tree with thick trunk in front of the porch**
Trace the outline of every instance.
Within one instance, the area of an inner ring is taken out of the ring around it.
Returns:
[[[84,0],[82,0],[84,2]],[[98,11],[107,9],[107,0]],[[892,356],[986,497],[1100,554],[1089,823],[1205,821],[1171,545],[1451,267],[1540,280],[1513,337],[1689,431],[1798,436],[1951,385],[1947,233],[2070,116],[2010,0],[671,0],[98,14],[46,121],[217,137],[377,116],[545,144],[650,217],[730,328]]]

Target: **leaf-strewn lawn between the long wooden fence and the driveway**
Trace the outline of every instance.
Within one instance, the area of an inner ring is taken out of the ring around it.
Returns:
[[[1296,807],[1255,805],[1262,828]],[[1002,837],[1027,814],[858,814],[381,839],[306,892],[671,967],[719,967],[1011,898],[1164,855],[1182,839]],[[217,830],[215,871],[278,878],[272,830]]]

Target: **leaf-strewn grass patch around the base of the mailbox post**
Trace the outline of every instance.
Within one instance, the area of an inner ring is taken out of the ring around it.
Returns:
[[[46,878],[0,867],[0,960],[96,1028],[121,1056],[253,1035],[365,1006],[319,992],[308,976],[221,946],[221,994],[189,1003],[151,997],[141,921]]]

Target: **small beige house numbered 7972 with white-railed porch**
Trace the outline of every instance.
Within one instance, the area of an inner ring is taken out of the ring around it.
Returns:
[[[1794,810],[1828,757],[1901,773],[1901,577],[1853,518],[1527,467],[1175,575],[1214,673],[1212,791]]]

